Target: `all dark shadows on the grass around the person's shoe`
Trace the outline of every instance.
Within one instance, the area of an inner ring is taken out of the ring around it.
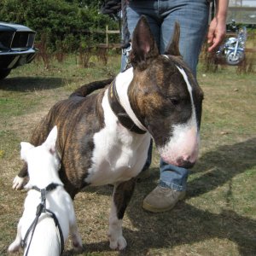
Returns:
[[[256,166],[255,145],[256,138],[252,138],[242,143],[224,145],[204,154],[195,166],[195,172],[201,170],[206,173],[189,182],[187,198],[216,189],[228,183],[232,177]],[[212,213],[180,202],[171,212],[144,212],[141,207],[143,197],[154,189],[155,182],[152,180],[159,178],[159,171],[154,171],[150,180],[137,184],[135,195],[125,213],[134,229],[124,229],[128,247],[120,253],[121,255],[149,255],[149,249],[157,249],[157,252],[160,252],[161,249],[211,239],[233,241],[239,255],[255,255],[256,221],[242,217],[232,210],[224,209],[220,213]],[[109,187],[97,190],[100,194],[109,195],[109,192]],[[227,194],[227,202],[230,193],[231,191]],[[109,252],[108,241],[84,244],[84,247],[86,253]],[[204,250],[206,254],[202,254],[207,255],[207,248]],[[218,255],[218,250],[219,248],[216,248],[214,255]]]

